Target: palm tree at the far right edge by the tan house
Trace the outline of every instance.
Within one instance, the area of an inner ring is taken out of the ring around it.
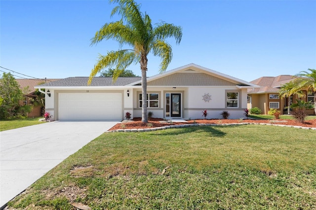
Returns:
[[[314,93],[314,110],[316,113],[316,70],[308,69],[308,71],[301,71],[297,76],[298,88],[307,89],[308,92]]]

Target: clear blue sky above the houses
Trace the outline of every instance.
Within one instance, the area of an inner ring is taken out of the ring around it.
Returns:
[[[316,0],[137,2],[153,24],[183,28],[179,45],[167,40],[173,48],[167,70],[195,63],[252,81],[316,69]],[[99,53],[118,49],[112,40],[90,46],[96,31],[118,20],[110,17],[114,6],[107,0],[0,0],[0,66],[37,78],[89,76]],[[147,75],[158,74],[159,58],[150,55],[148,62]],[[141,75],[139,65],[128,69]]]

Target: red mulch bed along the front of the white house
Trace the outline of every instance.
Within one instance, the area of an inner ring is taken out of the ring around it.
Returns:
[[[118,129],[141,129],[141,128],[157,128],[168,125],[181,125],[181,124],[192,124],[192,123],[205,123],[205,124],[230,124],[230,123],[240,123],[238,119],[197,119],[197,120],[188,120],[187,122],[173,122],[172,124],[163,121],[161,118],[150,118],[148,123],[143,123],[140,117],[134,118],[133,122],[122,122],[113,126],[109,131],[118,130]],[[287,122],[282,122],[287,121]],[[242,123],[273,123],[273,124],[282,124],[282,125],[292,125],[292,126],[302,126],[316,128],[316,119],[306,120],[305,123],[299,123],[296,120],[286,119],[286,120],[255,120],[255,119],[244,119]]]

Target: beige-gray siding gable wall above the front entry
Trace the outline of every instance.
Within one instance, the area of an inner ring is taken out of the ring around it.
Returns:
[[[233,82],[206,73],[173,73],[147,82],[148,86],[235,86]]]

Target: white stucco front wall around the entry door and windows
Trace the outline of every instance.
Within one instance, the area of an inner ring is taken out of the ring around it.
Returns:
[[[227,91],[236,91],[239,93],[239,106],[226,107]],[[148,108],[148,111],[154,113],[154,117],[166,118],[165,112],[165,94],[180,93],[181,94],[181,118],[183,119],[200,119],[202,111],[207,110],[208,119],[221,118],[221,112],[226,110],[231,115],[231,119],[239,119],[244,117],[244,109],[247,107],[247,90],[238,89],[236,86],[223,87],[185,87],[185,88],[155,88],[148,87],[148,93],[159,94],[159,107]],[[141,89],[133,89],[133,117],[141,117],[142,109],[139,107],[139,94]],[[203,100],[203,97],[210,96],[210,100]]]

